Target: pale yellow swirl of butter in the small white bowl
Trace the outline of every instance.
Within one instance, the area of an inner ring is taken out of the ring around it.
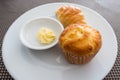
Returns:
[[[41,43],[50,44],[55,40],[56,36],[54,32],[49,28],[40,28],[37,34],[37,39]]]

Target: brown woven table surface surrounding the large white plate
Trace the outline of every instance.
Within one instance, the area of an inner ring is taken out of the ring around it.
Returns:
[[[1,56],[6,31],[27,10],[52,2],[70,2],[89,7],[111,24],[118,41],[118,55],[112,70],[104,80],[120,80],[120,0],[0,0],[0,80],[14,80],[7,72]]]

